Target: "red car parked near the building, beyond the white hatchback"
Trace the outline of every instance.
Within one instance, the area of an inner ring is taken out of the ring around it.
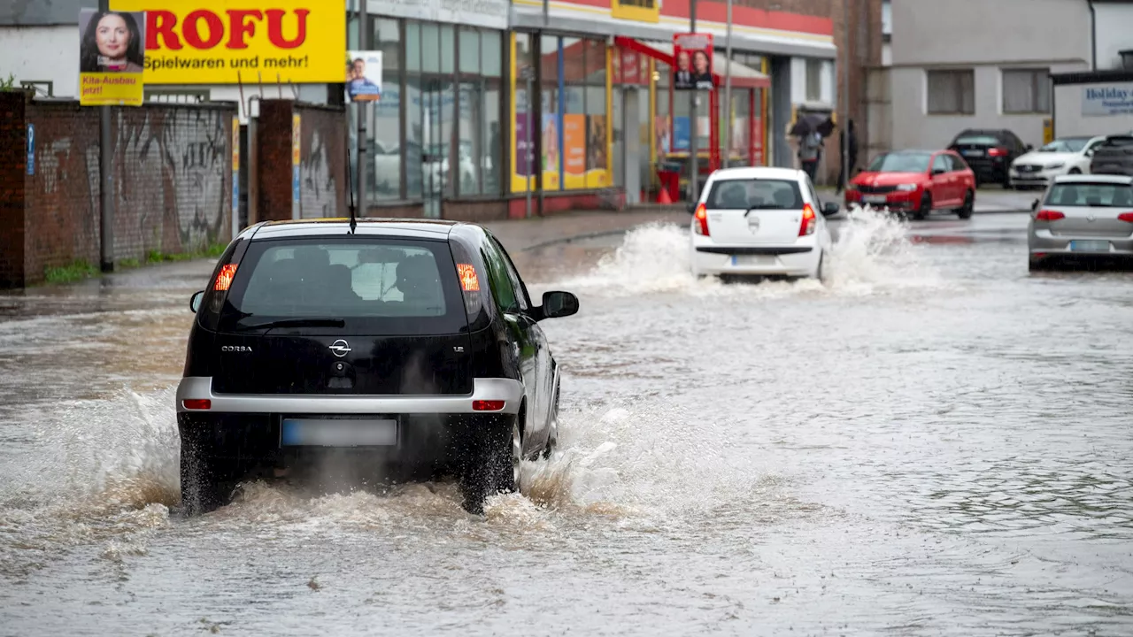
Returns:
[[[976,173],[952,151],[881,153],[850,180],[845,203],[910,213],[913,219],[937,210],[969,219],[976,205]]]

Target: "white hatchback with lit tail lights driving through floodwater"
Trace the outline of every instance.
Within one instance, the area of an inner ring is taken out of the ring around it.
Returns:
[[[713,172],[692,213],[692,273],[825,278],[830,233],[807,173],[787,168]]]

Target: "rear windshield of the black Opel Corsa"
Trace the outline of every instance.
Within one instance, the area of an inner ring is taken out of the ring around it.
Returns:
[[[220,329],[341,318],[355,333],[454,333],[467,326],[459,284],[445,241],[357,236],[253,241]]]

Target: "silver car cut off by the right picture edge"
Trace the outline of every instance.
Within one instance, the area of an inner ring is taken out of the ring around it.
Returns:
[[[1056,177],[1032,207],[1031,270],[1055,261],[1133,260],[1133,177]]]

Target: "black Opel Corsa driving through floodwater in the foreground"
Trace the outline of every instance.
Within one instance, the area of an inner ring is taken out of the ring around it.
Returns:
[[[559,367],[539,321],[578,298],[534,305],[480,226],[258,223],[208,283],[177,390],[186,513],[244,479],[343,459],[398,479],[454,474],[478,513],[555,444]]]

